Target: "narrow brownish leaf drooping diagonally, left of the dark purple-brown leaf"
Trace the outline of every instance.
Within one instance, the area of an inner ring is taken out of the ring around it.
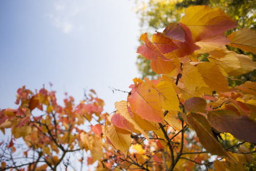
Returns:
[[[198,113],[189,113],[187,119],[189,125],[196,131],[200,143],[208,152],[220,156],[228,156],[227,152],[214,137],[211,126],[204,116]]]

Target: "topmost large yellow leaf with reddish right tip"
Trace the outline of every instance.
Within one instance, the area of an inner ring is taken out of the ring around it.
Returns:
[[[190,6],[185,9],[181,23],[189,27],[193,40],[198,42],[237,27],[229,15],[219,8],[211,9],[209,6]]]

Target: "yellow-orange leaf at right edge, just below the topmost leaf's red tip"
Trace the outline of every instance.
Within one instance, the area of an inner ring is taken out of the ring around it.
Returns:
[[[256,32],[250,30],[250,28],[241,28],[234,31],[227,38],[230,39],[230,46],[256,54]]]

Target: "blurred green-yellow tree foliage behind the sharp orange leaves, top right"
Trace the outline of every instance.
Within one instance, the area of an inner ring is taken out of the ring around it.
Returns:
[[[180,21],[181,14],[184,14],[184,9],[190,5],[209,5],[210,7],[220,7],[231,18],[237,21],[237,28],[251,28],[256,29],[256,3],[255,1],[222,1],[222,0],[206,0],[206,1],[136,1],[137,13],[141,20],[141,27],[143,30],[155,31],[156,29],[164,28],[170,22]],[[235,28],[235,29],[237,29]],[[227,31],[230,34],[235,29]],[[251,52],[246,52],[241,49],[234,49],[227,46],[229,50],[235,50],[238,54],[249,55],[253,60],[256,60],[256,55]],[[203,57],[202,57],[203,58]],[[145,60],[143,56],[138,55],[137,58],[138,70],[143,75],[151,78],[156,78],[156,73],[150,68],[150,63]],[[237,80],[229,80],[231,86],[236,86],[245,83],[247,80],[255,82],[256,72],[250,72],[245,75],[234,77]]]

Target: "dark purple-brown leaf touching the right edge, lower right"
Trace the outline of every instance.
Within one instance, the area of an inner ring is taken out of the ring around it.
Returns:
[[[217,131],[229,132],[237,139],[256,143],[256,123],[249,117],[231,111],[209,111],[208,120]]]

